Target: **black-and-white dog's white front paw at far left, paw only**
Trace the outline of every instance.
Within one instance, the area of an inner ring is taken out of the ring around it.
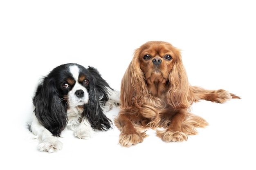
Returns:
[[[47,151],[49,153],[61,150],[63,144],[57,139],[57,137],[47,138],[38,144],[38,150]]]

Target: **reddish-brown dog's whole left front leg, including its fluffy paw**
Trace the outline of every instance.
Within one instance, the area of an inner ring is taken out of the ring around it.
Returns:
[[[136,145],[142,142],[147,136],[146,132],[139,132],[139,130],[132,125],[132,122],[126,113],[122,113],[122,111],[120,111],[119,117],[115,119],[115,125],[121,131],[119,136],[119,143],[121,146],[129,147],[131,145]]]

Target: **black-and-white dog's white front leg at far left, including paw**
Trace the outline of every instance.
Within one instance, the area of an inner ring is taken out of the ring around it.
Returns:
[[[49,130],[41,125],[34,113],[30,130],[39,139],[38,150],[56,152],[62,149],[63,144],[58,140],[58,137],[54,137]]]

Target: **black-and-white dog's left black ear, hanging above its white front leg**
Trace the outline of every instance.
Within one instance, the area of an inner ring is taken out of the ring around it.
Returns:
[[[54,84],[55,80],[45,77],[36,90],[33,98],[34,113],[40,122],[52,135],[60,136],[67,125],[66,108]]]

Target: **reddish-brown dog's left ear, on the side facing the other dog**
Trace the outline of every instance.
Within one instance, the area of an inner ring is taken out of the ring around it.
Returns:
[[[121,108],[131,106],[140,108],[144,104],[144,97],[148,93],[144,73],[139,66],[140,49],[135,50],[134,56],[121,80],[120,101]]]

